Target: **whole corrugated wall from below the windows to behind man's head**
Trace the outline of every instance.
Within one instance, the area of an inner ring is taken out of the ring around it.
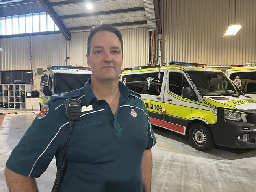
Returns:
[[[121,30],[124,41],[123,68],[147,65],[148,30],[133,28]],[[88,66],[86,63],[87,37],[89,32],[71,33],[72,41],[65,41],[62,34],[32,36],[32,69],[46,68],[52,64],[63,65],[67,56],[68,64]],[[0,39],[0,70],[29,70],[29,37]],[[67,43],[67,45],[66,45]]]

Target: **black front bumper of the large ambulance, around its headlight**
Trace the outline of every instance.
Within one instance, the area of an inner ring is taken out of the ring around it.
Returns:
[[[247,113],[247,122],[236,122],[224,119],[224,109],[217,108],[217,122],[210,125],[215,144],[232,148],[256,148],[256,113]]]

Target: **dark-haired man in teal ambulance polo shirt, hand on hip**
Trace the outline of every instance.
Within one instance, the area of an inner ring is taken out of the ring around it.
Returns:
[[[151,148],[156,138],[139,94],[118,81],[123,61],[119,30],[108,24],[91,29],[87,63],[92,77],[83,88],[53,95],[6,162],[11,192],[36,192],[34,177],[56,157],[57,168],[69,137],[66,98],[81,100],[65,159],[59,192],[150,192]]]

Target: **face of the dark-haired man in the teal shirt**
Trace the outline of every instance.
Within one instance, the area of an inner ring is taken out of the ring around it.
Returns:
[[[109,31],[99,31],[93,35],[90,46],[90,55],[86,57],[92,68],[92,76],[98,81],[118,79],[123,55],[117,35]]]

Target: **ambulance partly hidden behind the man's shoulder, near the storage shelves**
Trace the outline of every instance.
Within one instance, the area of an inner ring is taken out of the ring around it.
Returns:
[[[91,78],[91,68],[53,65],[43,72],[40,81],[40,111],[53,94],[79,89]]]

